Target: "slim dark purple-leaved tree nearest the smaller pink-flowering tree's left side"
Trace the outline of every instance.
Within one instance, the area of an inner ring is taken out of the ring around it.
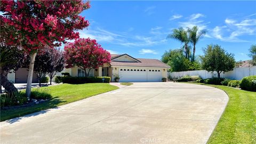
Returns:
[[[49,63],[47,63],[47,74],[50,77],[50,84],[52,84],[52,78],[63,70],[65,67],[65,58],[61,50],[53,49],[50,55]]]

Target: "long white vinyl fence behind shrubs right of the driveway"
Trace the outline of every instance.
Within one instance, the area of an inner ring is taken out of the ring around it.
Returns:
[[[177,79],[182,76],[200,76],[203,79],[211,78],[211,77],[218,77],[216,71],[213,73],[211,71],[206,70],[191,70],[191,71],[180,71],[180,72],[169,72],[169,76],[173,79]],[[237,79],[241,80],[245,76],[255,76],[256,75],[256,66],[249,67],[249,68],[234,68],[231,71],[226,73],[221,73],[220,77],[229,78],[229,79]]]

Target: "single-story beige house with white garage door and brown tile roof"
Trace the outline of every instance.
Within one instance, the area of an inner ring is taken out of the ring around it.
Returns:
[[[111,62],[90,70],[89,76],[109,76],[114,82],[115,75],[121,77],[119,82],[161,82],[167,78],[166,65],[157,59],[133,58],[128,54],[111,54]],[[85,76],[84,70],[73,67],[64,70],[71,76]]]

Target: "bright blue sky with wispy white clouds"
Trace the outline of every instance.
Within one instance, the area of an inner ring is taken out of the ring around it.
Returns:
[[[248,49],[256,44],[256,1],[91,1],[82,15],[90,26],[79,31],[81,37],[135,58],[161,59],[164,51],[181,47],[166,36],[174,28],[195,25],[208,30],[196,55],[207,44],[219,44],[236,60],[248,60]]]

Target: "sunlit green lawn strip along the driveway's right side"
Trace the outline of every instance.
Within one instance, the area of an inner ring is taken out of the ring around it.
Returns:
[[[198,83],[193,83],[198,84]],[[256,92],[217,87],[228,94],[228,105],[207,143],[256,143]]]

